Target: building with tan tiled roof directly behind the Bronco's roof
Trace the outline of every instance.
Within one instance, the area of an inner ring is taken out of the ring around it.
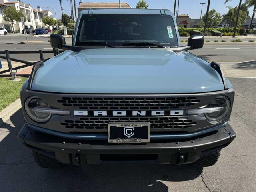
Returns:
[[[119,8],[119,3],[118,2],[106,2],[106,3],[101,3],[101,2],[83,2],[80,3],[78,6],[78,13],[84,9],[111,9],[111,8]],[[121,2],[120,3],[120,8],[132,8],[128,3]]]

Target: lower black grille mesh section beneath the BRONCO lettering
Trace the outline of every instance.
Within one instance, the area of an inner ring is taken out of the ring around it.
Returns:
[[[102,129],[113,122],[150,122],[151,129],[186,129],[196,125],[193,120],[178,117],[80,117],[79,120],[65,120],[60,125],[67,129]]]

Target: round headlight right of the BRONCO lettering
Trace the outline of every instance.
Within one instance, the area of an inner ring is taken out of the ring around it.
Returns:
[[[222,110],[217,112],[210,112],[204,114],[208,122],[218,123],[221,122],[230,110],[230,100],[225,96],[218,96],[208,104],[206,108],[221,107]]]

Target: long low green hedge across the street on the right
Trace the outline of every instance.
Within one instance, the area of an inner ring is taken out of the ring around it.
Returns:
[[[179,32],[185,31],[188,32],[190,35],[192,33],[192,30],[196,30],[196,31],[200,31],[201,33],[204,31],[204,28],[185,28],[185,27],[179,27],[178,28]],[[222,33],[229,33],[229,32],[233,32],[234,31],[234,27],[222,27],[222,28],[212,28],[212,27],[208,27],[206,28],[207,32],[211,32],[212,30],[218,30]],[[236,32],[238,32],[239,34],[244,34],[244,28],[236,28]]]

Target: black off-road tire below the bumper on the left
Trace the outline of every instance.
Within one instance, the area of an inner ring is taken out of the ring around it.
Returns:
[[[54,169],[65,166],[64,164],[58,162],[58,160],[56,160],[55,158],[45,156],[35,151],[33,151],[33,156],[38,166],[42,168]]]

